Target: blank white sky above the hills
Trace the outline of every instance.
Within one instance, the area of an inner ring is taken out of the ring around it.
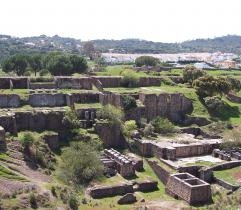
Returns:
[[[241,35],[240,0],[0,0],[0,34],[181,42]]]

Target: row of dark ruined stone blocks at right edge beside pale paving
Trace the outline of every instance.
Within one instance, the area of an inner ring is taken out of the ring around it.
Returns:
[[[220,150],[214,149],[213,157],[220,158],[221,160],[231,161],[233,159],[241,160],[241,149]]]

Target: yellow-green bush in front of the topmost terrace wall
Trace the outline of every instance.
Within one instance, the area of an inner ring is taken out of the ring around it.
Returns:
[[[121,73],[121,85],[124,87],[137,87],[139,85],[139,75],[133,70],[125,70]]]

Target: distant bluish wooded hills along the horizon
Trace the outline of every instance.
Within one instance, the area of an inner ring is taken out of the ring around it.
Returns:
[[[241,36],[224,36],[215,39],[197,39],[182,43],[161,43],[139,39],[93,40],[97,50],[118,53],[184,53],[184,52],[231,52],[241,54]],[[45,53],[64,51],[81,53],[84,42],[60,36],[11,37],[0,35],[0,61],[16,53]]]

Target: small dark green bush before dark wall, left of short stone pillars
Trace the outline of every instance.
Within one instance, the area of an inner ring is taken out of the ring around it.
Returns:
[[[80,121],[77,117],[77,113],[72,110],[64,113],[62,123],[67,129],[74,129],[80,127]]]

